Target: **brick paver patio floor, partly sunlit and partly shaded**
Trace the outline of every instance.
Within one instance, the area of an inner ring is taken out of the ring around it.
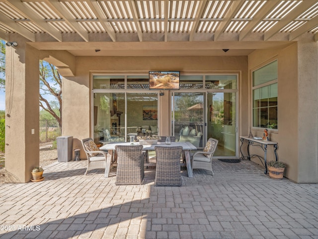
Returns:
[[[86,161],[45,167],[42,182],[0,185],[0,238],[314,239],[318,184],[275,180],[251,161],[214,161],[182,187],[116,186]],[[31,176],[31,175],[30,175]]]

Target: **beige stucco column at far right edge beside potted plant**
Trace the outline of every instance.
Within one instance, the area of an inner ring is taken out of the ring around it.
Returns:
[[[298,182],[318,182],[318,42],[298,41]],[[295,139],[296,140],[296,139]]]

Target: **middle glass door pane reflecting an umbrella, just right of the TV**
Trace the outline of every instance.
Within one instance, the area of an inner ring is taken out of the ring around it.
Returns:
[[[172,129],[176,141],[191,142],[197,148],[202,148],[204,132],[203,93],[174,93],[172,107]]]

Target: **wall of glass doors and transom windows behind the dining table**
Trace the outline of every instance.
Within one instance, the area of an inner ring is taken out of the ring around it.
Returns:
[[[148,77],[93,76],[95,142],[124,142],[137,134],[158,135],[159,91],[149,90]],[[172,119],[163,115],[162,119],[171,120],[176,141],[191,142],[202,149],[213,137],[219,140],[215,156],[238,156],[237,74],[181,75],[180,89],[169,93]]]

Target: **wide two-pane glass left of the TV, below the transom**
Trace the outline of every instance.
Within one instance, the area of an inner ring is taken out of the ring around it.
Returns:
[[[94,93],[93,104],[96,143],[158,134],[158,93]]]

